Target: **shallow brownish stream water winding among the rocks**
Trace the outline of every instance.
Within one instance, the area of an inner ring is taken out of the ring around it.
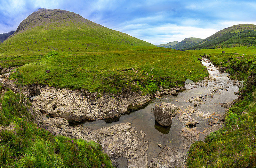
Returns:
[[[220,73],[216,67],[209,66],[211,63],[207,59],[203,59],[202,63],[207,67],[209,75],[212,78],[216,79],[216,83],[220,82],[230,82],[227,73]],[[208,84],[209,85],[209,84]],[[216,86],[216,85],[215,85]],[[157,146],[158,143],[161,143],[163,147],[165,145],[175,148],[179,152],[187,152],[188,149],[184,149],[184,140],[180,137],[180,130],[185,126],[185,123],[180,122],[178,115],[172,119],[172,125],[169,128],[164,128],[158,125],[155,122],[154,117],[154,104],[161,104],[162,102],[172,103],[176,106],[179,106],[181,110],[187,108],[187,106],[193,106],[193,103],[187,102],[188,99],[192,97],[205,96],[206,94],[213,93],[213,97],[207,97],[204,99],[204,104],[198,105],[196,109],[202,111],[203,113],[214,114],[212,117],[215,117],[217,114],[225,114],[225,108],[220,107],[219,103],[231,102],[237,99],[237,96],[234,92],[238,91],[238,88],[231,87],[225,88],[227,90],[221,90],[214,92],[213,88],[207,87],[197,87],[189,90],[184,90],[179,92],[177,96],[173,95],[163,95],[159,99],[153,99],[150,104],[145,108],[135,111],[130,114],[120,116],[119,120],[116,122],[106,123],[103,120],[93,121],[93,122],[84,122],[83,126],[90,129],[100,129],[102,127],[109,127],[115,124],[131,122],[132,126],[137,129],[139,132],[143,130],[146,133],[145,140],[149,141],[148,147],[148,163],[151,162],[152,157],[157,157],[162,148]],[[219,94],[220,92],[220,94]],[[209,119],[202,119],[201,117],[196,117],[192,115],[199,124],[196,125],[197,131],[203,131],[204,128],[211,127],[208,123]],[[204,135],[201,134],[199,140],[204,139]],[[125,158],[118,158],[117,162],[119,163],[120,168],[127,168],[127,160]]]

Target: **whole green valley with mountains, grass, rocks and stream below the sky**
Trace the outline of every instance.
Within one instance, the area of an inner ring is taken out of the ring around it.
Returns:
[[[255,27],[157,47],[40,8],[1,34],[0,165],[255,166]]]

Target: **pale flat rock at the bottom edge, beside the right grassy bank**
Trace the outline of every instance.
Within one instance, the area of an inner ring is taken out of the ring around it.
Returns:
[[[165,146],[157,157],[153,157],[148,168],[171,168],[182,166],[186,156],[185,153],[177,152],[174,149]]]

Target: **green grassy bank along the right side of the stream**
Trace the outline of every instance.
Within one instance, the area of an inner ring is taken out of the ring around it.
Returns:
[[[255,49],[225,48],[222,49],[226,51],[224,54],[216,53],[217,49],[204,50],[206,54],[210,54],[210,60],[215,65],[227,67],[231,78],[244,80],[245,86],[240,89],[243,99],[229,108],[225,125],[207,136],[204,142],[192,145],[188,157],[189,168],[256,167]]]

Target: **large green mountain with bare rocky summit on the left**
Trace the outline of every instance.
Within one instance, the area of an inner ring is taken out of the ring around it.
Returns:
[[[29,15],[18,26],[7,43],[76,40],[91,43],[110,43],[129,46],[154,46],[128,34],[108,29],[66,10],[41,8]],[[21,45],[22,45],[21,44]],[[44,45],[42,45],[44,46]]]

